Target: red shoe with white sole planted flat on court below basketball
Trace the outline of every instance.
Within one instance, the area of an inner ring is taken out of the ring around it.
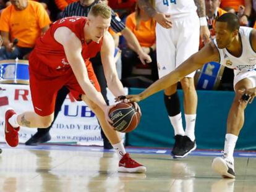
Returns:
[[[145,173],[147,168],[130,158],[129,153],[124,154],[119,161],[118,172]]]

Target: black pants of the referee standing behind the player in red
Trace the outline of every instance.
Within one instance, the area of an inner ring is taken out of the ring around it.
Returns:
[[[103,65],[101,64],[100,54],[98,53],[96,55],[96,57],[90,59],[90,61],[92,61],[93,70],[98,79],[98,82],[100,83],[101,94],[103,95],[103,98],[105,99],[106,104],[109,104],[108,98],[106,96],[106,93],[107,93],[106,92],[106,78],[104,75]],[[59,114],[59,111],[61,110],[61,106],[62,106],[63,102],[65,101],[68,93],[69,93],[69,90],[66,88],[66,86],[63,86],[61,88],[61,90],[58,91],[58,95],[57,95],[56,103],[55,103],[55,109],[54,109],[53,122],[51,123],[51,125],[48,128],[38,128],[37,129],[38,133],[41,133],[43,135],[51,129],[54,121],[56,120],[56,117]],[[105,140],[105,141],[108,140],[108,138],[106,138],[106,135],[103,132],[102,128],[101,128],[101,136],[102,136],[103,140]]]

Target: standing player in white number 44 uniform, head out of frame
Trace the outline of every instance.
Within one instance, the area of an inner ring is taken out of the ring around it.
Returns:
[[[193,0],[156,0],[155,5],[153,3],[154,0],[139,0],[140,8],[158,22],[156,24],[156,56],[158,74],[161,78],[198,51],[200,35],[205,43],[208,42],[210,32],[205,17],[204,0],[195,0],[195,2]],[[197,93],[194,74],[195,72],[192,72],[181,80],[184,91],[186,131],[182,126],[177,83],[164,89],[164,104],[175,134],[175,143],[171,152],[174,158],[185,157],[196,148],[194,130]]]

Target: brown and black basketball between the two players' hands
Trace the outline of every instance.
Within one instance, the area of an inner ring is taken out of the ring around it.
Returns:
[[[109,118],[113,121],[116,131],[128,133],[134,130],[140,122],[140,114],[134,104],[119,102],[109,111]]]

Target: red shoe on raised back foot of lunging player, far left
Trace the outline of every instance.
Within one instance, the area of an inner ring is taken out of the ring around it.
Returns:
[[[4,134],[6,138],[6,143],[14,148],[19,144],[19,133],[20,127],[14,128],[8,122],[8,120],[12,117],[12,115],[16,114],[14,110],[9,109],[6,111],[6,122],[4,126]]]

